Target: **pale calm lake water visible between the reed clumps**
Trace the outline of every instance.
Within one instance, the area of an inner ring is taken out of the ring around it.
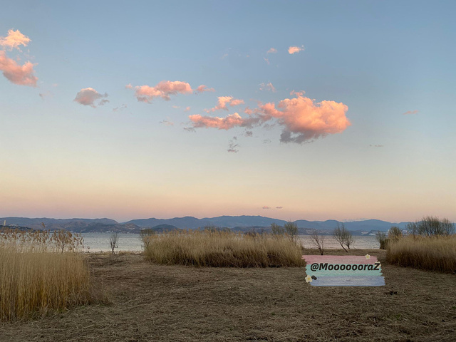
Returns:
[[[84,238],[85,252],[103,252],[110,251],[108,233],[86,233],[82,234]],[[307,235],[299,236],[304,248],[316,248]],[[325,237],[324,246],[326,249],[338,249],[341,246],[333,237]],[[354,249],[378,249],[379,244],[375,237],[355,237],[353,243]],[[142,251],[142,242],[139,234],[119,234],[119,247],[116,251]]]

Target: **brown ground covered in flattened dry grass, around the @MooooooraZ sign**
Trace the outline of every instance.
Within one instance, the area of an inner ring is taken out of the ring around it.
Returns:
[[[90,254],[110,304],[0,323],[0,341],[456,341],[455,274],[390,266],[380,250],[351,252],[367,253],[383,261],[385,286],[311,286],[304,268],[161,266],[141,255]]]

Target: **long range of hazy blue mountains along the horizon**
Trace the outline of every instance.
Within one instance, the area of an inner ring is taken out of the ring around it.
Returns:
[[[205,217],[197,219],[196,217],[174,217],[172,219],[132,219],[128,222],[117,222],[114,219],[50,219],[50,218],[27,218],[27,217],[2,217],[0,224],[6,222],[6,225],[28,227],[31,229],[67,229],[72,232],[120,232],[120,233],[139,233],[142,229],[152,228],[162,231],[172,229],[197,229],[205,226],[228,227],[234,231],[246,232],[251,229],[265,229],[266,232],[272,223],[284,226],[286,221],[283,219],[273,219],[263,216],[219,216]],[[366,219],[363,221],[340,222],[334,219],[326,221],[307,221],[299,219],[294,221],[299,227],[300,234],[309,233],[311,229],[317,229],[321,232],[331,232],[338,224],[344,224],[346,229],[351,232],[386,232],[391,226],[405,229],[408,222],[391,223],[379,219]]]

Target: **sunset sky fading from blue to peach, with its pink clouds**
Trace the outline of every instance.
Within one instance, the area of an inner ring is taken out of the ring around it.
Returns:
[[[456,221],[455,1],[9,1],[0,217]]]

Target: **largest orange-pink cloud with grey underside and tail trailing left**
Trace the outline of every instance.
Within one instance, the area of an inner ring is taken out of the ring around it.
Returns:
[[[224,103],[228,103],[226,100]],[[225,118],[202,115],[190,115],[193,128],[218,128],[229,130],[234,127],[261,126],[266,129],[269,120],[275,120],[282,127],[281,142],[303,143],[324,138],[328,134],[341,133],[351,125],[346,118],[348,107],[335,101],[315,103],[310,98],[298,95],[296,98],[275,103],[259,105],[249,110],[249,118],[242,118],[238,113]],[[266,124],[265,124],[266,123]]]

